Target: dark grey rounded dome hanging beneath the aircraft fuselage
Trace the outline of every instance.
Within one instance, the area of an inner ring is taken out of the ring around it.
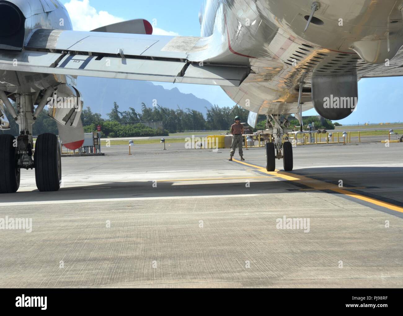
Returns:
[[[320,116],[344,119],[355,111],[357,102],[357,74],[312,77],[312,103]]]

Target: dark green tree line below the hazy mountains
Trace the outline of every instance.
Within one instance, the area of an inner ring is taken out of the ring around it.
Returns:
[[[206,117],[200,111],[193,109],[170,109],[157,105],[156,107],[147,107],[145,103],[141,104],[141,112],[137,112],[132,107],[127,111],[120,111],[119,105],[114,102],[108,118],[104,119],[100,113],[93,112],[90,107],[83,109],[81,120],[84,125],[85,132],[96,131],[96,126],[102,126],[103,136],[106,137],[131,137],[131,136],[166,136],[168,133],[184,132],[192,130],[229,130],[233,124],[235,116],[241,117],[241,122],[246,122],[249,115],[249,110],[239,106],[219,107],[213,105],[210,108],[206,107]],[[18,126],[14,119],[7,114],[10,121],[11,129],[1,131],[5,134],[18,135]],[[289,118],[291,128],[299,126],[299,121],[294,117]],[[164,129],[152,129],[145,126],[141,122],[145,121],[162,121]],[[120,124],[133,122],[133,124]],[[316,128],[334,129],[334,124],[330,120],[320,119],[318,116],[304,117],[304,125],[314,122]],[[266,116],[259,115],[258,123],[255,129],[265,129]],[[56,122],[48,116],[46,110],[37,117],[33,124],[33,134],[39,135],[42,133],[58,134]]]

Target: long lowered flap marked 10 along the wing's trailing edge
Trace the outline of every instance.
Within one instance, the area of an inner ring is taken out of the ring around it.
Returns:
[[[27,50],[12,54],[0,52],[0,69],[219,86],[239,86],[249,71],[246,67],[197,66],[185,61],[64,55]]]

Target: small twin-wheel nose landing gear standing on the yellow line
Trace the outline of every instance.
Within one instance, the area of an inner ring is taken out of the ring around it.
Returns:
[[[287,135],[291,130],[287,130],[290,122],[285,119],[280,120],[280,115],[270,115],[271,120],[267,118],[266,130],[264,134],[268,134],[269,138],[266,143],[266,170],[276,170],[276,159],[283,158],[283,168],[285,171],[293,170],[293,146],[288,140]]]

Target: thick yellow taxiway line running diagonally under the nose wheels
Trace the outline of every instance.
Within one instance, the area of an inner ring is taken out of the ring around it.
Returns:
[[[308,177],[305,177],[305,176],[300,176],[298,174],[291,174],[291,173],[288,173],[288,172],[285,172],[285,171],[278,171],[278,170],[273,171],[273,172],[268,172],[266,170],[266,168],[258,166],[258,165],[252,165],[250,163],[239,161],[237,159],[233,159],[233,161],[235,161],[237,163],[241,163],[243,165],[247,165],[249,167],[256,168],[256,170],[258,170],[260,172],[263,172],[265,174],[268,174],[270,176],[276,176],[276,177],[279,177],[279,178],[283,178],[285,180],[298,182],[298,183],[303,184],[305,186],[309,186],[312,189],[316,189],[316,190],[332,190],[334,192],[341,193],[343,195],[347,195],[349,197],[353,197],[353,198],[359,199],[361,201],[365,201],[365,202],[368,202],[368,203],[371,203],[371,204],[374,204],[374,205],[378,205],[378,206],[381,206],[381,207],[385,207],[387,209],[391,209],[393,211],[403,213],[403,207],[393,205],[391,203],[382,202],[382,201],[379,201],[377,199],[372,199],[370,197],[366,197],[364,195],[348,191],[348,190],[351,190],[353,188],[339,188],[339,186],[337,184],[327,183],[327,182],[324,182],[324,181],[321,181],[321,180],[316,180],[316,179],[308,178]]]

